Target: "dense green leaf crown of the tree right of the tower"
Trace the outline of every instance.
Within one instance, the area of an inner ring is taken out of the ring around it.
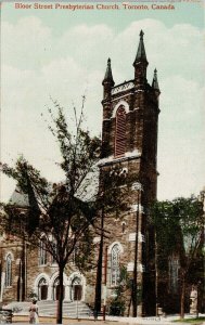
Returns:
[[[204,226],[202,203],[196,197],[156,202],[151,216],[159,255],[195,256]]]

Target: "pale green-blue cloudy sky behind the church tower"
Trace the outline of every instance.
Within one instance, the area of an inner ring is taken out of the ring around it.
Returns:
[[[52,108],[50,98],[57,100],[69,119],[73,106],[80,107],[86,95],[88,129],[91,134],[101,134],[102,79],[107,57],[112,60],[115,84],[133,79],[141,29],[148,80],[152,82],[156,67],[162,92],[158,199],[197,195],[205,185],[201,1],[175,2],[174,11],[75,12],[21,10],[14,2],[2,2],[1,161],[13,165],[23,154],[42,176],[61,181],[63,173],[55,164],[60,161],[57,145],[46,121],[48,107]],[[15,183],[1,176],[0,185],[0,199],[7,202]]]

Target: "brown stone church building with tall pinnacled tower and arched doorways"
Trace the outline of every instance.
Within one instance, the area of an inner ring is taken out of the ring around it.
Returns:
[[[129,63],[128,63],[129,64]],[[104,230],[110,235],[104,245],[107,249],[106,284],[105,259],[102,272],[102,303],[105,295],[115,296],[119,281],[119,268],[124,265],[140,298],[136,301],[138,314],[155,313],[154,236],[149,223],[149,206],[156,199],[157,190],[157,127],[159,88],[157,72],[150,84],[146,80],[148,58],[143,31],[133,61],[133,77],[115,84],[111,60],[107,61],[103,84],[102,157],[99,164],[100,191],[108,186],[107,178],[117,172],[123,179],[132,180],[127,194],[127,210],[105,216]],[[28,202],[15,192],[11,198],[20,208]],[[99,237],[94,238],[95,242]],[[36,294],[39,300],[56,300],[59,295],[57,265],[43,249],[30,250],[26,243],[0,237],[0,301],[28,300]],[[23,276],[23,274],[25,276]],[[64,301],[82,300],[94,303],[95,269],[85,274],[73,263],[64,274]],[[128,295],[126,304],[131,297]],[[134,298],[133,298],[134,299]],[[133,307],[132,307],[133,308]]]

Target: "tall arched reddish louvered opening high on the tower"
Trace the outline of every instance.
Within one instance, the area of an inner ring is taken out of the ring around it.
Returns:
[[[126,152],[126,110],[119,106],[116,112],[115,157],[124,156]]]

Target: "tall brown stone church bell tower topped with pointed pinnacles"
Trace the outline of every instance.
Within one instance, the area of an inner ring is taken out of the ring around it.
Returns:
[[[104,176],[117,170],[124,174],[124,186],[130,192],[124,199],[128,208],[119,216],[104,217],[107,242],[107,295],[112,297],[118,284],[120,266],[128,272],[132,289],[126,307],[130,315],[155,312],[154,236],[149,222],[149,208],[156,199],[157,126],[161,94],[157,72],[152,84],[146,80],[148,58],[143,31],[133,62],[134,78],[115,86],[111,58],[103,79],[101,191],[107,186]],[[126,181],[127,180],[127,181]]]

